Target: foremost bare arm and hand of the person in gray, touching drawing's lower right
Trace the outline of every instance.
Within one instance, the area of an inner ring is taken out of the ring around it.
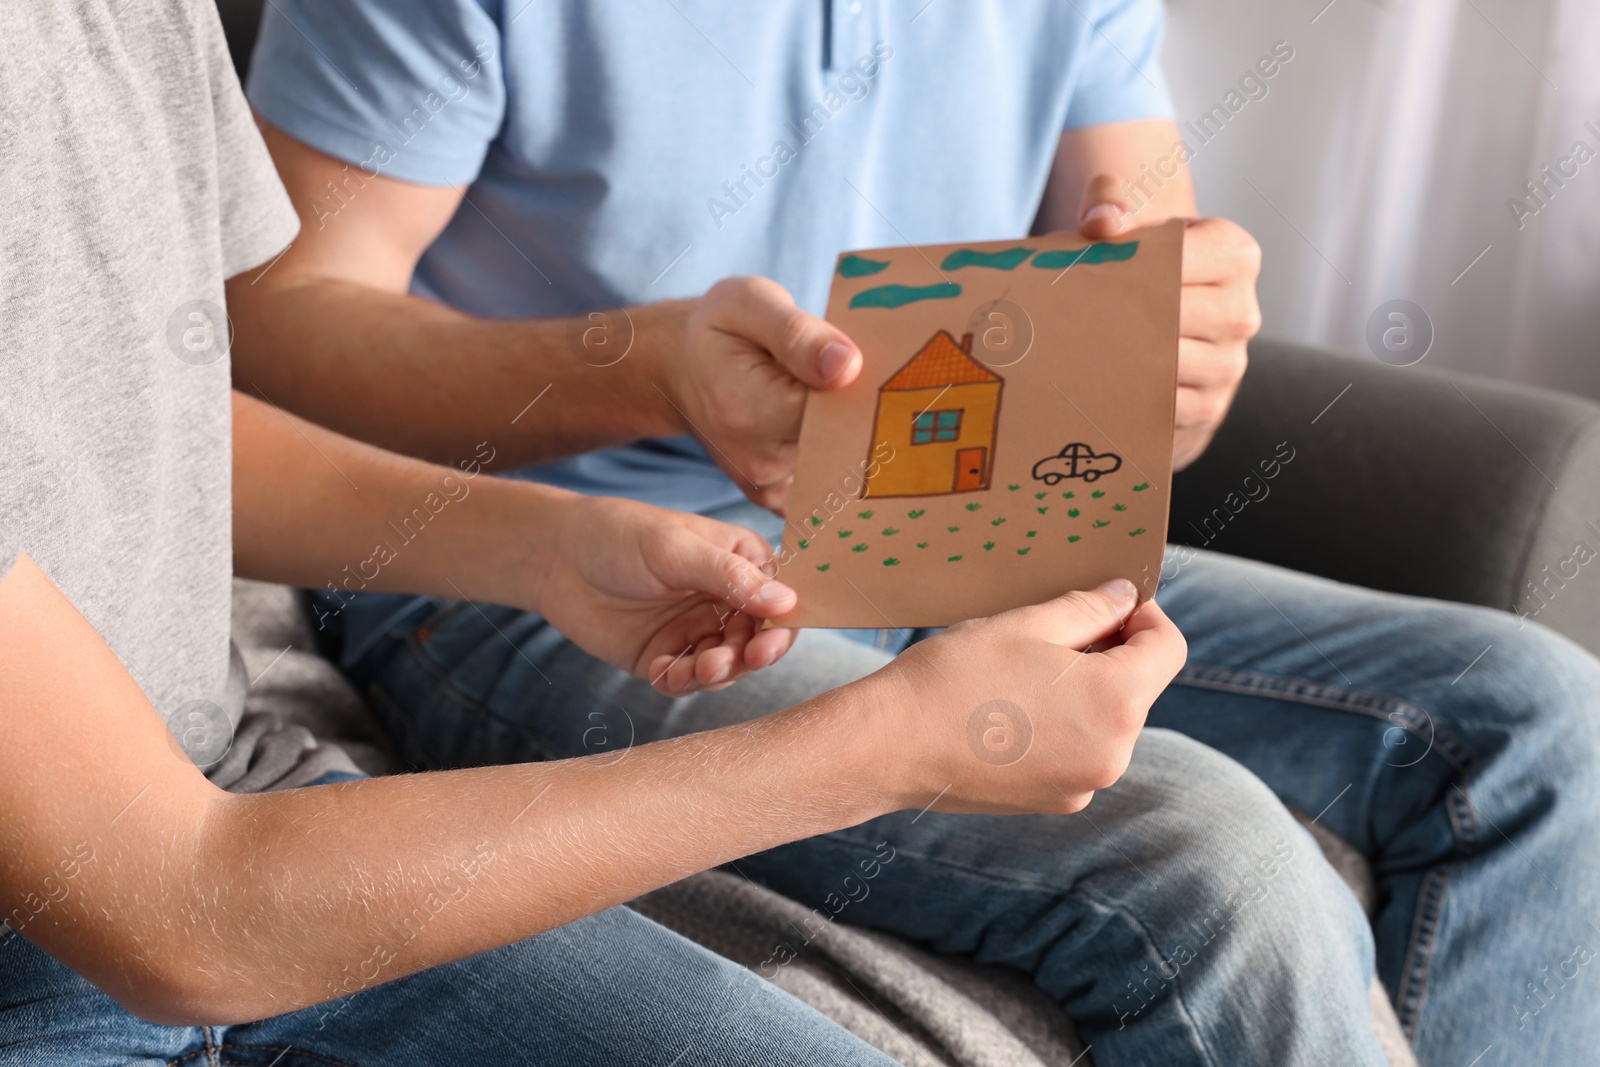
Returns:
[[[136,1014],[224,1024],[936,797],[949,811],[1077,811],[1122,774],[1182,662],[1160,609],[1123,624],[1131,606],[1128,585],[962,624],[824,697],[621,758],[230,795],[24,555],[0,579],[0,909]],[[1118,625],[1064,672],[1072,648]],[[1005,768],[966,739],[994,697],[1035,728]]]

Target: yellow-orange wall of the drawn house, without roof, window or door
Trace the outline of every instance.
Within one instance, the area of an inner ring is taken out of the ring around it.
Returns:
[[[995,419],[1000,408],[1000,382],[970,382],[944,389],[906,389],[878,394],[878,419],[874,450],[886,442],[894,458],[867,480],[864,496],[933,496],[955,490],[955,453],[963,448],[987,448],[989,472],[994,470]],[[934,403],[938,400],[938,403]],[[931,405],[931,406],[930,406]],[[962,410],[962,435],[954,442],[912,445],[910,429],[923,411]],[[877,454],[877,453],[874,453]]]

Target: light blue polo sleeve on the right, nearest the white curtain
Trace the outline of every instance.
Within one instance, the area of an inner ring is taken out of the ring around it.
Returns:
[[[1171,118],[1160,64],[1163,0],[1099,0],[1078,10],[1090,26],[1064,126]]]

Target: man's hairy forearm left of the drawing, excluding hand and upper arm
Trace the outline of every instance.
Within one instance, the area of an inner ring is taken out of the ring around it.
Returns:
[[[675,302],[594,322],[493,320],[269,272],[234,278],[229,312],[235,389],[408,456],[456,462],[488,442],[496,467],[518,467],[683,432],[656,389],[682,331]]]

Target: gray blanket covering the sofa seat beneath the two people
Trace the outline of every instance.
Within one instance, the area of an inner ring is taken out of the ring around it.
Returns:
[[[224,761],[230,789],[296,785],[326,769],[397,769],[360,694],[317,654],[306,617],[294,590],[234,585],[234,641],[250,689]],[[285,768],[293,768],[290,779]],[[1371,880],[1360,856],[1322,827],[1312,832],[1370,910]],[[803,925],[805,907],[738,873],[709,870],[632,907],[752,969],[779,945],[798,949],[776,974],[766,966],[768,977],[907,1067],[1093,1064],[1067,1016],[1021,973],[840,923],[816,929],[814,921]],[[1416,1067],[1376,979],[1371,1001],[1390,1064]]]

